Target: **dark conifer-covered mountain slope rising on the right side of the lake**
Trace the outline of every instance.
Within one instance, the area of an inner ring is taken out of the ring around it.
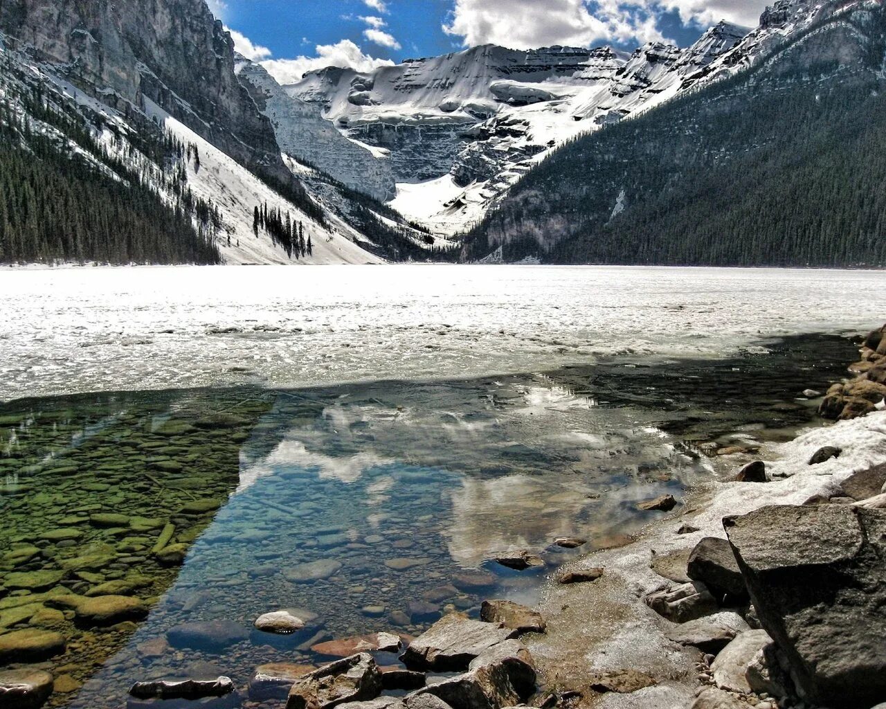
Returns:
[[[468,235],[463,256],[886,263],[882,2],[781,2],[707,74],[556,152]]]

